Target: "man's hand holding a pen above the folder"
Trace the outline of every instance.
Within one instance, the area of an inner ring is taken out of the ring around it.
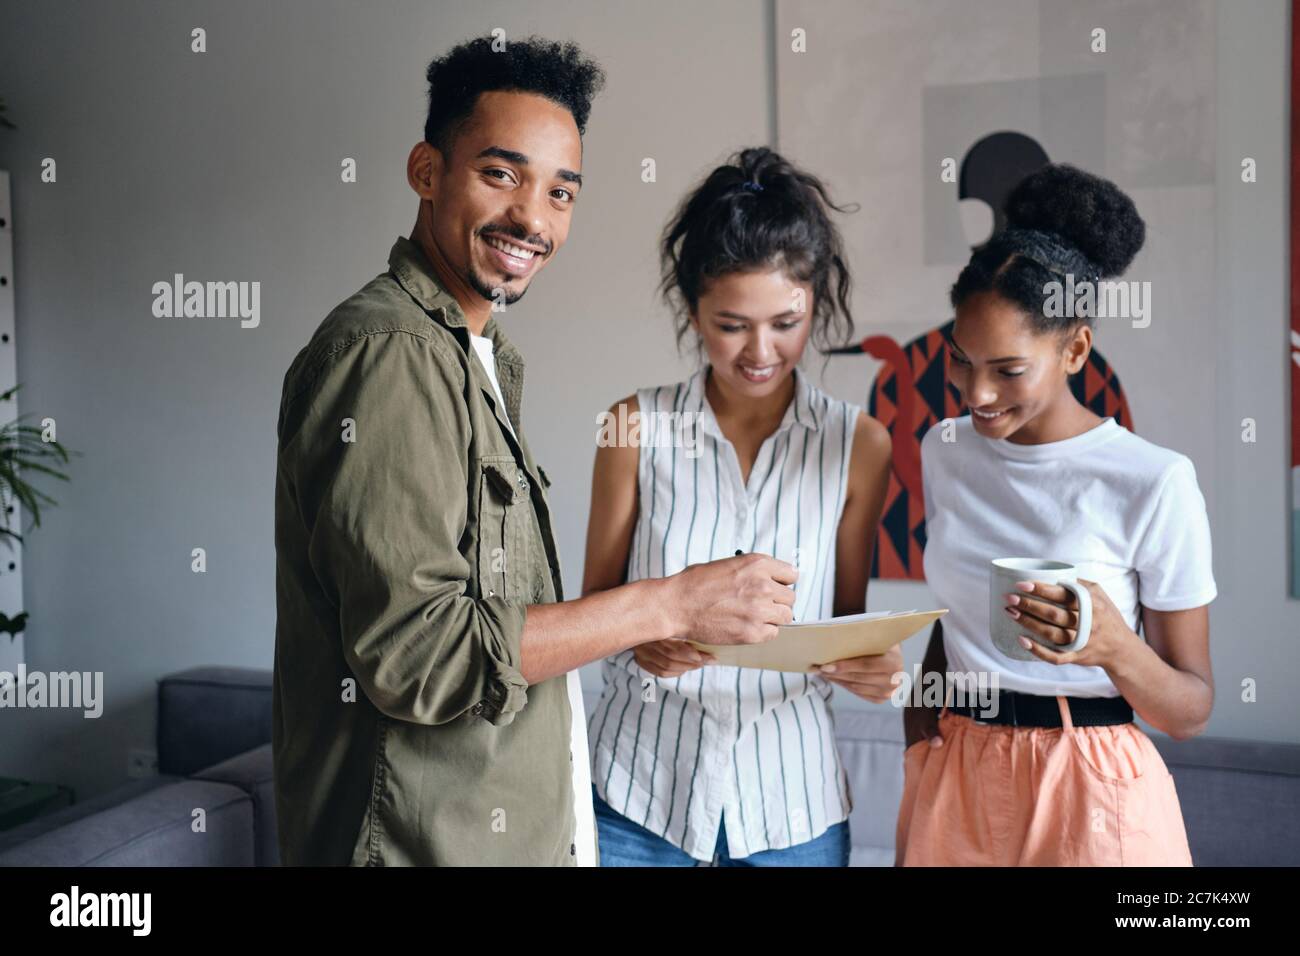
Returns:
[[[762,644],[794,619],[793,564],[766,554],[692,564],[666,583],[680,637],[701,644]]]

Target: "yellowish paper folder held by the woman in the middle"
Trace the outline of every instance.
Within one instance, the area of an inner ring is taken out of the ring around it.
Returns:
[[[715,663],[757,667],[767,671],[811,674],[823,663],[846,657],[883,654],[894,644],[911,637],[932,620],[948,614],[939,611],[870,611],[842,618],[809,620],[777,628],[766,644],[688,644],[712,654]]]

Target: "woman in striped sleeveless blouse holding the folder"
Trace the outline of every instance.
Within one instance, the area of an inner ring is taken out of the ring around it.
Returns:
[[[831,209],[815,177],[766,148],[677,209],[663,293],[679,343],[692,336],[705,362],[610,408],[640,427],[597,450],[584,594],[762,553],[797,568],[794,620],[864,609],[889,433],[801,367],[810,338],[824,351],[853,330]],[[829,700],[836,684],[887,700],[897,648],[785,674],[658,641],[603,667],[589,731],[602,866],[848,865]]]

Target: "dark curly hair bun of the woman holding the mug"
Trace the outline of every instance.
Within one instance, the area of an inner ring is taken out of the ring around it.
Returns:
[[[1024,177],[1006,198],[1008,222],[1054,233],[1101,272],[1118,276],[1138,255],[1147,224],[1115,183],[1065,163]]]

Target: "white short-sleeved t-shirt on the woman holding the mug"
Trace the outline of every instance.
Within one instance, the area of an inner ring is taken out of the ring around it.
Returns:
[[[1210,528],[1186,455],[1138,437],[1114,419],[1063,441],[985,438],[970,416],[920,444],[926,489],[926,580],[948,607],[950,671],[998,672],[998,688],[1115,697],[1101,667],[1015,661],[988,633],[989,562],[1046,558],[1076,564],[1138,630],[1139,604],[1200,607],[1218,593]]]

